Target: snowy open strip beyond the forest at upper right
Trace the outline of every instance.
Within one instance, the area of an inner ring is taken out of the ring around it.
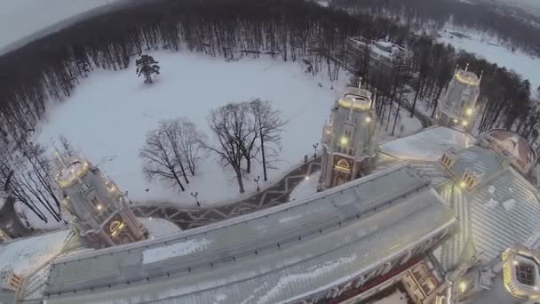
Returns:
[[[457,32],[466,37],[458,37],[451,34]],[[506,67],[518,72],[531,84],[531,91],[535,92],[540,85],[540,59],[530,56],[520,50],[512,52],[507,46],[502,45],[494,36],[480,33],[473,29],[455,28],[446,25],[439,31],[440,42],[452,44],[457,49],[473,52],[486,60],[496,63],[500,67]],[[480,73],[480,71],[475,71]]]

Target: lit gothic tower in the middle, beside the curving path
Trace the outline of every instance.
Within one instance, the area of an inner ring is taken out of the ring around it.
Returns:
[[[320,190],[355,180],[369,171],[377,156],[375,105],[371,92],[348,87],[334,103],[322,129]]]

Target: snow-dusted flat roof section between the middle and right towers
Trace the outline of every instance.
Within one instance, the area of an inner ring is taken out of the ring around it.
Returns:
[[[437,161],[449,148],[467,148],[474,138],[464,132],[447,127],[427,128],[422,132],[388,141],[381,145],[385,154],[402,159]]]

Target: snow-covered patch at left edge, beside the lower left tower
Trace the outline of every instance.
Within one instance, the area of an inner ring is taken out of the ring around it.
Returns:
[[[0,244],[0,270],[27,275],[60,252],[69,230],[33,236]]]

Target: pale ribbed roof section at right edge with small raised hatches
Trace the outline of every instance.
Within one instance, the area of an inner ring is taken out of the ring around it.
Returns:
[[[512,244],[531,242],[531,236],[540,231],[538,191],[512,167],[473,192],[455,183],[444,184],[438,191],[462,226],[448,246],[443,245],[444,268],[467,260],[473,252],[483,252],[487,261],[495,259]]]

